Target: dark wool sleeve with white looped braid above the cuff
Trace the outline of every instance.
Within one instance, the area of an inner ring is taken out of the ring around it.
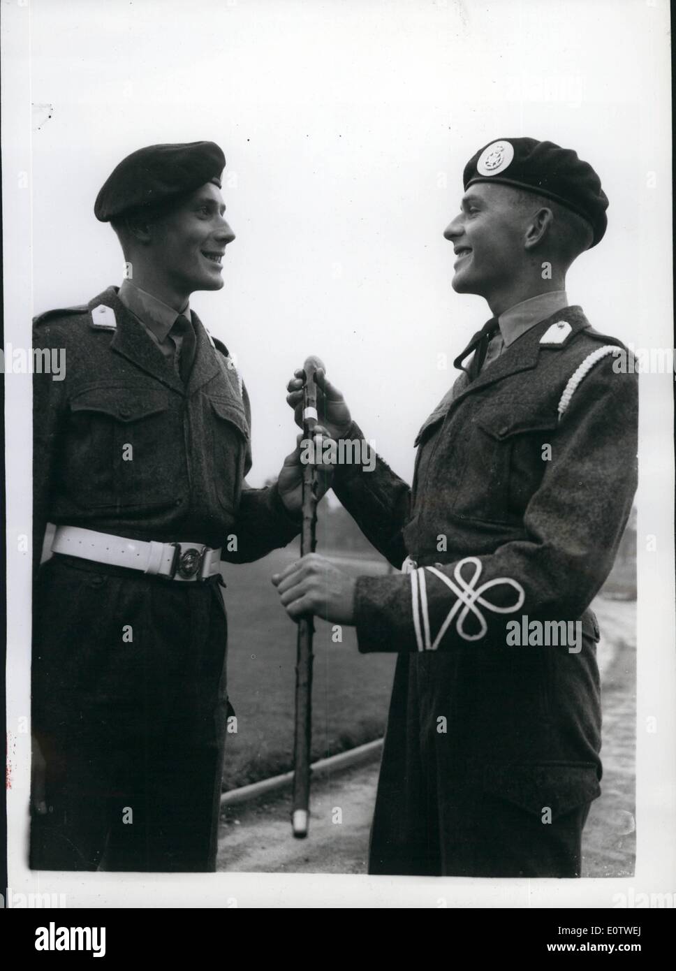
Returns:
[[[454,651],[510,619],[578,619],[613,565],[636,489],[638,387],[612,362],[578,386],[524,514],[525,538],[397,577],[360,577],[359,651]]]

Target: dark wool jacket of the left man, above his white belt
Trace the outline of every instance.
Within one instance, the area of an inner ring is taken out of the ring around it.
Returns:
[[[35,347],[65,351],[65,378],[34,376],[35,569],[48,521],[204,543],[236,562],[297,534],[276,486],[244,483],[252,464],[246,388],[223,345],[192,319],[196,350],[184,385],[117,287],[36,318]]]

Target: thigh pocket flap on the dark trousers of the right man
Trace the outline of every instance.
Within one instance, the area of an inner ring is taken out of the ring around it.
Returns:
[[[585,762],[487,765],[484,789],[538,816],[549,807],[552,819],[601,794],[596,767]]]

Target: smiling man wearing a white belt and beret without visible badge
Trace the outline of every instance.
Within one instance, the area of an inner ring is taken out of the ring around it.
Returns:
[[[299,449],[275,485],[244,482],[247,389],[188,305],[223,285],[224,164],[213,142],[120,162],[95,215],[126,279],[35,321],[66,360],[34,381],[35,869],[215,868],[234,724],[220,561],[285,546],[301,482]]]

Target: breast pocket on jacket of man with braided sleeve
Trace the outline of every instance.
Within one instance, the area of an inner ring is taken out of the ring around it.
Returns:
[[[475,420],[456,490],[454,513],[467,519],[515,523],[554,454],[556,417]]]

